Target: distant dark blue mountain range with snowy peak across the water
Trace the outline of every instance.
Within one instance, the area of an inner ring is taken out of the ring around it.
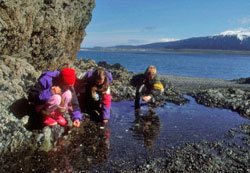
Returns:
[[[237,31],[225,31],[221,34],[206,37],[195,37],[171,42],[158,42],[139,46],[119,45],[99,49],[111,50],[232,50],[250,51],[250,28]]]

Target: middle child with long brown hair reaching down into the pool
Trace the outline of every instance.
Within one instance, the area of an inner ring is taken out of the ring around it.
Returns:
[[[79,103],[82,111],[92,118],[108,123],[111,110],[109,83],[113,80],[111,73],[101,68],[88,71],[79,84]]]

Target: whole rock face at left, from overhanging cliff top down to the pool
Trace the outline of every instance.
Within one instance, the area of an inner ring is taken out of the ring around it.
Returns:
[[[48,138],[25,127],[32,115],[27,90],[42,70],[72,66],[94,6],[94,0],[0,0],[0,153]]]

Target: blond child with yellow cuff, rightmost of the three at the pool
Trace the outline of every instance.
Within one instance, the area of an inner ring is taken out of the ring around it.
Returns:
[[[156,67],[148,66],[145,73],[137,74],[132,78],[132,85],[136,86],[135,109],[140,108],[140,99],[154,101],[154,97],[160,95],[164,88],[157,76]]]

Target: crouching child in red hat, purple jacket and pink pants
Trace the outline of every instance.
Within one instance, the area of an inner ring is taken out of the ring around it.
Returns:
[[[29,102],[35,105],[35,110],[42,116],[43,124],[55,126],[67,124],[63,114],[69,110],[73,116],[73,125],[80,126],[82,115],[74,90],[75,70],[64,68],[59,71],[45,71],[38,83],[29,90]]]

